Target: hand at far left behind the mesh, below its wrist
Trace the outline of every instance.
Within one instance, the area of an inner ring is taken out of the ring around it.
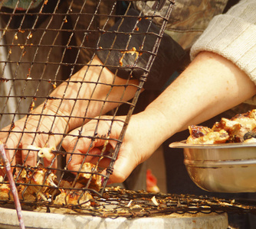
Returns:
[[[51,108],[43,108],[40,105],[28,116],[0,131],[0,139],[5,143],[11,165],[24,163],[35,166],[38,151],[29,150],[31,145],[56,148],[60,143],[61,133],[64,133],[67,127],[67,118],[56,117],[57,112],[53,106]],[[51,159],[44,158],[44,166],[49,166]],[[52,166],[56,166],[56,163],[54,160]]]

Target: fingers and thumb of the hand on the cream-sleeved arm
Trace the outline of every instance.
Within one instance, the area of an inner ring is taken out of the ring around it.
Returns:
[[[117,146],[121,125],[113,124],[109,139],[97,139],[92,140],[95,133],[95,126],[97,121],[90,121],[83,127],[84,131],[80,131],[80,128],[71,131],[67,137],[64,138],[62,147],[67,152],[74,152],[72,157],[67,156],[67,168],[77,171],[80,169],[81,163],[90,162],[97,164],[102,168],[108,168],[110,161],[113,160],[111,153]],[[109,131],[110,124],[107,121],[98,123],[97,132],[106,135]],[[80,137],[78,137],[80,136]],[[132,173],[133,169],[139,164],[136,153],[133,152],[129,144],[123,143],[120,148],[120,152],[117,156],[117,160],[113,166],[113,174],[110,176],[108,183],[123,182]],[[106,154],[110,153],[110,156]],[[137,153],[139,154],[139,153]],[[106,173],[106,171],[104,172]]]

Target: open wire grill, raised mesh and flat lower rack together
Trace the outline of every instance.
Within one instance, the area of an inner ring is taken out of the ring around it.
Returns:
[[[153,69],[153,63],[159,51],[174,1],[139,1],[140,11],[138,14],[130,14],[130,9],[135,7],[138,1],[13,2],[2,1],[0,3],[0,63],[2,71],[0,77],[0,128],[8,126],[2,130],[2,134],[6,136],[6,142],[10,141],[10,136],[13,134],[19,136],[17,145],[12,148],[2,148],[2,153],[5,150],[14,152],[10,159],[11,171],[22,208],[28,211],[43,211],[48,214],[61,212],[61,214],[68,213],[74,217],[79,214],[111,219],[151,218],[167,214],[190,214],[194,217],[196,214],[210,215],[213,213],[212,217],[215,218],[217,215],[218,222],[222,226],[226,225],[225,211],[227,209],[229,211],[231,209],[235,213],[237,211],[238,213],[254,211],[254,206],[237,204],[231,200],[222,202],[195,196],[156,195],[107,187],[107,181],[113,173],[113,164],[123,142],[126,127],[149,73]],[[127,20],[133,21],[133,27],[130,27],[129,32],[123,31],[122,27],[124,21]],[[141,21],[146,21],[148,25],[146,30],[139,30]],[[156,21],[160,21],[161,26],[158,29],[152,29],[153,22]],[[115,27],[114,24],[117,26]],[[133,37],[138,35],[140,43],[137,47],[130,47]],[[110,37],[110,46],[103,44],[104,36]],[[120,36],[126,40],[124,47],[117,44]],[[146,41],[150,39],[153,39],[154,43],[149,49]],[[100,52],[104,53],[105,62],[95,64],[93,60]],[[117,65],[113,65],[108,59],[112,52],[119,55]],[[146,56],[144,59],[146,63],[139,66],[139,58],[143,55]],[[126,62],[126,57],[132,62]],[[73,80],[71,76],[84,67],[87,67],[87,70],[83,72],[83,83]],[[104,69],[111,69],[114,75],[113,83],[103,83],[99,80],[90,82],[88,69],[92,67],[100,69],[98,79],[103,77]],[[133,81],[136,70],[139,72],[138,84]],[[122,71],[127,75],[126,82],[117,85],[114,83],[117,73]],[[54,89],[63,83],[63,94],[53,96]],[[84,83],[90,84],[92,88],[88,98],[80,98]],[[68,98],[65,94],[67,88],[74,84],[78,85],[76,95]],[[109,88],[104,99],[94,98],[94,92],[99,85]],[[125,97],[129,87],[134,91],[131,100]],[[123,92],[118,98],[112,99],[110,94],[117,88],[122,89]],[[80,114],[83,115],[77,116],[74,110],[84,101],[86,101],[86,105],[79,107],[82,110]],[[58,107],[51,114],[45,113],[45,109],[52,102],[57,102]],[[60,108],[65,102],[72,106],[65,114],[62,114]],[[88,111],[90,104],[101,105],[97,115],[90,115]],[[112,109],[107,111],[107,114],[110,114],[108,117],[111,117],[107,118],[110,121],[108,134],[103,136],[97,134],[98,125],[96,125],[90,136],[84,136],[81,125],[78,130],[79,134],[74,136],[78,137],[73,150],[65,151],[61,147],[64,137],[73,136],[67,131],[69,122],[76,119],[81,124],[87,121],[97,121],[99,124],[100,121],[106,120],[106,116],[103,116],[106,114],[106,104],[112,105]],[[40,105],[40,112],[34,112],[34,109]],[[123,106],[126,108],[124,121],[117,116],[120,111],[123,114]],[[15,121],[20,118],[23,118],[25,125],[23,128],[17,129]],[[45,118],[51,119],[51,122],[45,123]],[[67,120],[66,126],[62,127],[63,131],[56,131],[54,128],[54,124],[58,124],[59,118]],[[37,126],[26,127],[32,119],[38,121]],[[121,123],[122,131],[118,138],[112,139],[110,133],[115,122]],[[43,131],[41,131],[42,124],[47,126]],[[28,146],[23,148],[28,154],[20,160],[19,145],[26,134],[30,134],[33,148]],[[38,137],[42,137],[44,140],[43,146],[35,145]],[[44,147],[48,149],[51,137],[58,139],[57,147],[50,149],[51,152],[49,151],[52,156],[51,163],[46,164],[38,156],[36,165],[28,166],[29,155],[33,152],[42,153],[41,150]],[[99,140],[103,140],[105,144],[98,149],[99,153],[95,155],[90,153],[90,149],[84,153],[83,163],[87,157],[94,157],[94,164],[87,165],[89,169],[84,170],[83,166],[80,166],[77,170],[71,170],[68,164],[72,157],[77,156],[76,147],[81,138],[91,140],[91,146]],[[117,143],[114,149],[109,147],[110,140]],[[18,163],[14,163],[15,158]],[[100,167],[100,161],[103,159],[110,162],[107,168]],[[2,169],[5,166],[6,163],[2,160]],[[106,173],[102,173],[102,171],[106,171]],[[40,174],[42,176],[39,176]],[[41,183],[35,182],[38,177],[41,178]],[[1,209],[5,213],[8,212],[10,216],[13,211],[11,209],[5,211],[5,208],[13,208],[15,196],[11,193],[9,186],[11,182],[8,181],[7,174],[2,175],[0,185],[1,192],[4,193],[0,198]],[[56,202],[58,198],[60,201]],[[71,201],[71,199],[75,200]],[[220,202],[222,204],[219,204]],[[41,218],[44,218],[42,214],[40,215]],[[7,218],[6,221],[8,221]],[[8,224],[6,221],[1,221],[0,224]],[[208,224],[207,220],[206,224]]]

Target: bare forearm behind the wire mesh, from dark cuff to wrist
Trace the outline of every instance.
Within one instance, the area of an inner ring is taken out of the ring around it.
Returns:
[[[129,83],[136,85],[137,80]],[[94,118],[100,115],[100,112],[104,114],[117,107],[118,102],[133,98],[136,86],[125,85],[126,79],[115,77],[106,67],[103,68],[100,60],[95,57],[89,67],[84,66],[51,93],[51,96],[57,99],[48,101],[44,113],[50,110],[57,111],[57,114],[63,117],[73,116],[74,118],[68,121],[67,131],[71,131],[83,124],[84,118]]]

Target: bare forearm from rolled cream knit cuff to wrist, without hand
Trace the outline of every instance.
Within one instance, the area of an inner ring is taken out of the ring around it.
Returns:
[[[199,53],[192,64],[147,108],[162,129],[162,141],[251,98],[254,82],[215,53]],[[157,118],[162,117],[162,118]]]

